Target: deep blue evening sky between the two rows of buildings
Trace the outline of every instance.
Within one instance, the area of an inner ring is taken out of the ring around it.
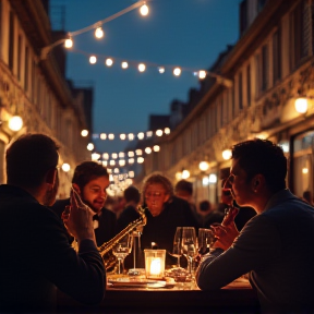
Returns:
[[[148,130],[148,116],[169,114],[173,99],[188,100],[189,89],[197,88],[193,71],[209,69],[218,55],[239,38],[241,0],[152,0],[149,14],[135,9],[102,25],[105,37],[94,31],[73,37],[67,76],[77,85],[93,85],[93,133],[135,133]],[[65,7],[65,31],[75,32],[134,4],[132,0],[51,0]],[[97,55],[96,64],[88,56]],[[104,64],[106,57],[116,61]],[[116,58],[116,59],[114,59]],[[132,63],[121,69],[121,61]],[[134,61],[134,63],[132,62]],[[137,63],[147,67],[144,73]],[[165,65],[160,74],[157,65]],[[167,65],[170,65],[168,69]],[[179,77],[170,69],[182,68]],[[186,70],[184,70],[186,69]],[[117,136],[118,135],[118,136]],[[95,140],[98,153],[119,153],[128,142]]]

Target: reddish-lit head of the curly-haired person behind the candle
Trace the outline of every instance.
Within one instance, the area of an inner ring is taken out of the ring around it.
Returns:
[[[164,209],[164,204],[173,196],[173,186],[168,178],[154,173],[145,180],[143,195],[152,215],[158,216]]]

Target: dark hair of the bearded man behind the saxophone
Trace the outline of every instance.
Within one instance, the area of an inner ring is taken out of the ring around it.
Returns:
[[[109,178],[107,168],[96,161],[83,161],[76,166],[72,178],[72,183],[78,185],[81,190],[92,180],[99,177]]]

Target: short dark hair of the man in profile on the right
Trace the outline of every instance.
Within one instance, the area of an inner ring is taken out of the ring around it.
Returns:
[[[263,174],[273,193],[286,188],[287,158],[279,145],[261,138],[245,141],[232,147],[232,159],[239,160],[247,182]]]

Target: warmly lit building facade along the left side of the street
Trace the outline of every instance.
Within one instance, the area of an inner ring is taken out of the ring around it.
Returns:
[[[78,161],[90,159],[86,149],[88,137],[81,131],[89,129],[84,95],[72,93],[53,50],[43,57],[43,48],[52,41],[48,16],[49,1],[0,0],[0,183],[5,182],[4,152],[19,135],[40,132],[52,136],[60,146],[59,196],[69,195],[72,172]],[[74,95],[74,96],[73,96]],[[89,108],[89,109],[88,109]],[[8,128],[13,116],[23,119],[16,132]]]

